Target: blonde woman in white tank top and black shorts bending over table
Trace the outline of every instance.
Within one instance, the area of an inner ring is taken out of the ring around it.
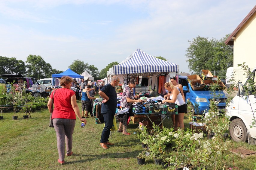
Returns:
[[[171,92],[171,94],[165,95],[165,98],[171,98],[169,100],[163,100],[162,102],[168,102],[168,103],[176,103],[178,105],[178,115],[175,115],[175,130],[178,130],[177,128],[184,128],[184,113],[186,110],[186,104],[184,99],[182,98],[181,92],[177,88],[173,86],[172,83],[167,82],[164,84],[164,87]]]

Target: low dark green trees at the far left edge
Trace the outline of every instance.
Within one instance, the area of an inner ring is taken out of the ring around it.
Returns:
[[[0,74],[26,74],[24,61],[0,56]]]

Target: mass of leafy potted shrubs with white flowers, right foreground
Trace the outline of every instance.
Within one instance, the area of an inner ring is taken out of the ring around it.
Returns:
[[[212,95],[216,94],[213,92]],[[140,141],[146,145],[146,148],[137,158],[142,159],[149,155],[148,157],[153,158],[155,163],[162,163],[168,169],[183,169],[184,167],[188,169],[206,169],[206,167],[228,169],[228,148],[230,142],[232,143],[232,141],[226,140],[229,119],[218,113],[216,105],[215,101],[211,101],[211,109],[207,116],[201,118],[201,121],[207,123],[206,132],[214,134],[211,139],[204,138],[206,137],[205,132],[195,133],[191,129],[174,131],[173,128],[163,127],[160,129],[153,125],[151,133],[148,133],[148,130],[144,128],[138,134]],[[189,101],[187,107],[191,107]],[[188,112],[187,114],[191,117],[193,113]]]

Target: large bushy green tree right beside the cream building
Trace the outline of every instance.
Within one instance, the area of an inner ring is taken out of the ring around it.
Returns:
[[[233,66],[233,48],[225,45],[225,40],[229,35],[216,40],[212,38],[196,37],[187,48],[188,68],[194,72],[200,72],[201,69],[207,70],[226,70]]]

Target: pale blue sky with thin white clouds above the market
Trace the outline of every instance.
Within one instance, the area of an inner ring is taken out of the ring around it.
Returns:
[[[136,48],[190,72],[188,40],[230,34],[255,6],[251,0],[1,0],[0,56],[40,55],[53,69],[74,60],[99,71]]]

